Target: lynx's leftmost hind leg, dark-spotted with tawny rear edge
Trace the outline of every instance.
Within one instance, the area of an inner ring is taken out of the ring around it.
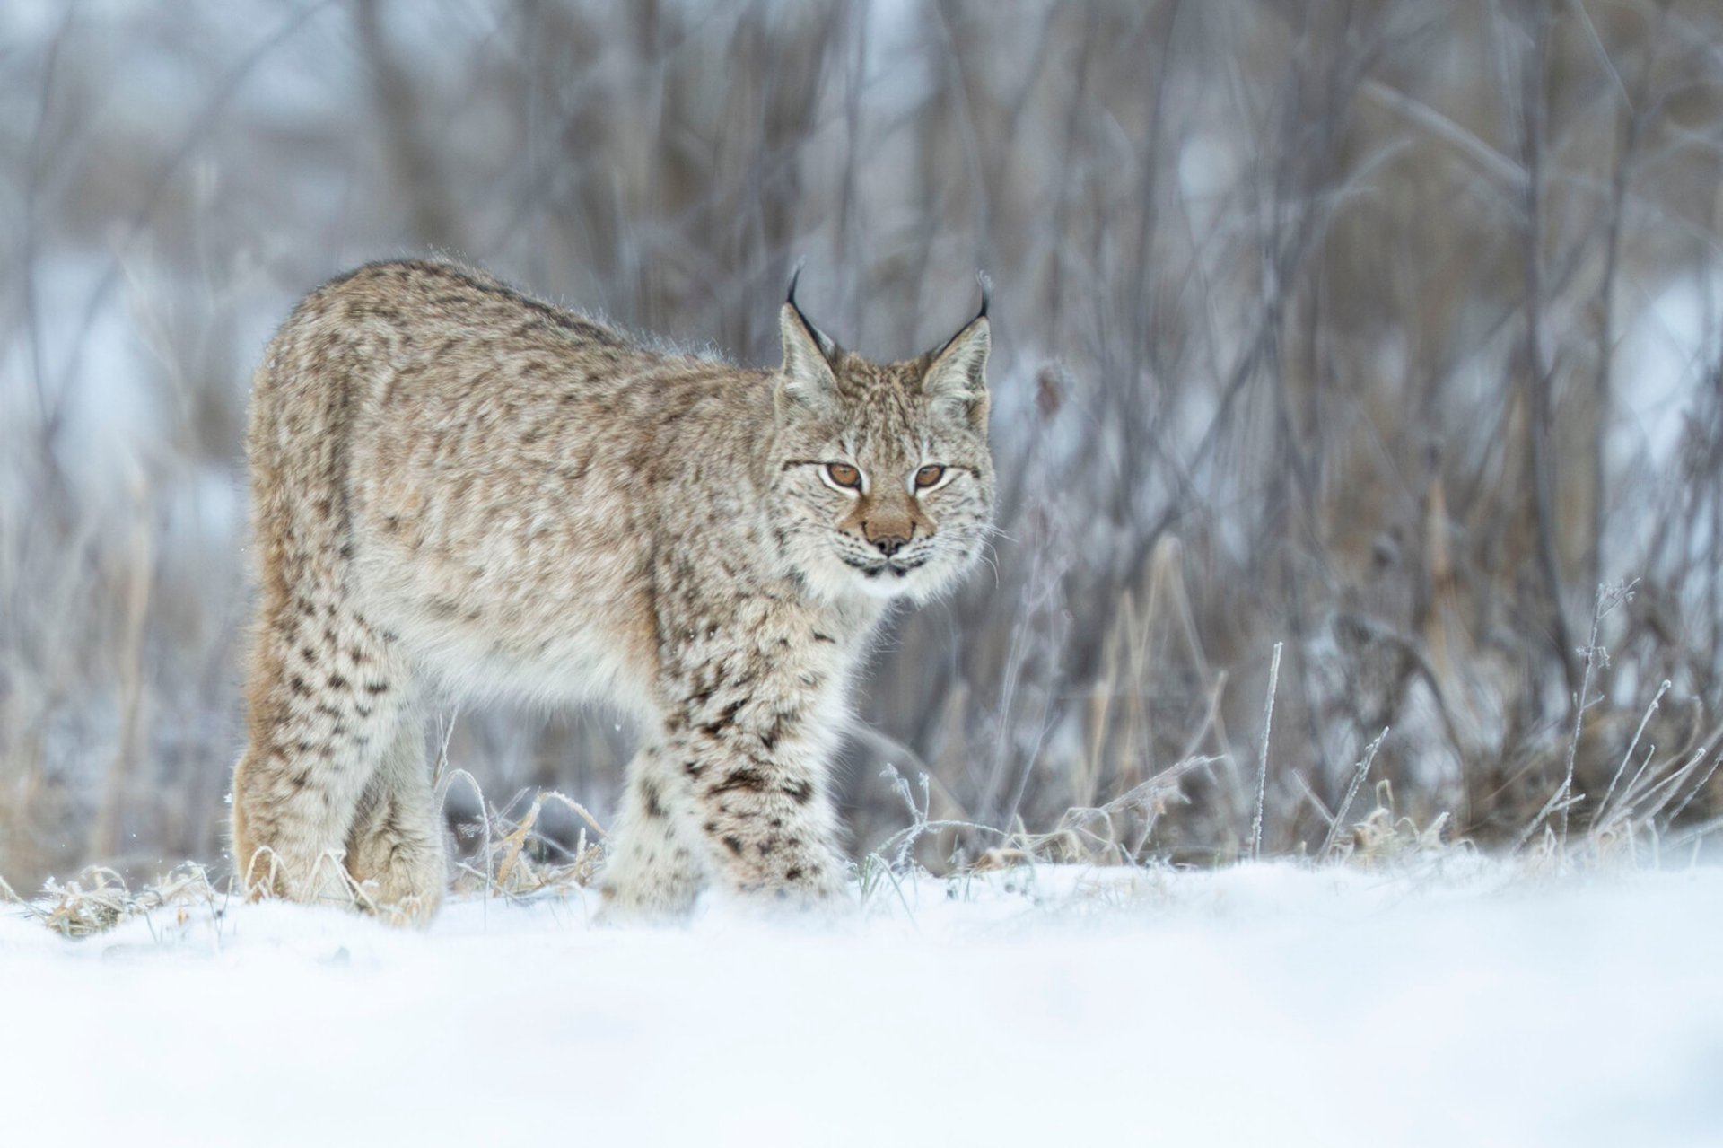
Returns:
[[[403,722],[405,684],[400,658],[333,596],[265,607],[233,777],[234,872],[248,896],[357,903],[346,846]]]

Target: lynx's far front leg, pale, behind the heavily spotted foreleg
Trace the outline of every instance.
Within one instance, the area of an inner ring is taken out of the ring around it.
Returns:
[[[686,915],[706,883],[700,853],[681,824],[672,783],[656,748],[644,748],[629,762],[622,815],[605,860],[608,917]]]

